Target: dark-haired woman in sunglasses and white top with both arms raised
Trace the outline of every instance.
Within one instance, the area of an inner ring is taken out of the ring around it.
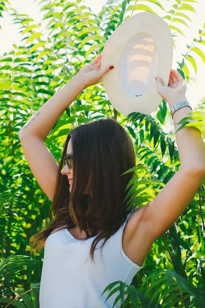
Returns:
[[[201,134],[186,127],[176,133],[180,169],[152,202],[128,211],[124,199],[134,172],[121,175],[135,166],[135,150],[126,130],[109,118],[71,130],[58,165],[44,141],[80,92],[113,68],[100,65],[101,54],[18,133],[31,171],[52,201],[51,223],[32,237],[31,245],[45,246],[40,308],[112,307],[118,293],[105,302],[106,286],[117,280],[131,283],[153,242],[187,208],[205,175]],[[186,100],[186,83],[174,69],[168,87],[157,78],[157,91],[170,107]],[[173,114],[175,130],[190,111],[183,107]]]

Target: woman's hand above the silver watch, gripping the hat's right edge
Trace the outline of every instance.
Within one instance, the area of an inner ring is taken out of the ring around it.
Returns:
[[[181,75],[175,70],[171,69],[169,84],[163,86],[162,80],[157,77],[157,92],[166,100],[169,105],[173,105],[176,101],[183,100],[186,97],[187,84]]]

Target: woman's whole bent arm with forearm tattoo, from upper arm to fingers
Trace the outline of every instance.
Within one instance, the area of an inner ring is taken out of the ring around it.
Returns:
[[[109,66],[100,70],[101,54],[79,70],[63,88],[57,91],[19,130],[18,137],[29,167],[48,198],[53,200],[58,163],[44,141],[60,115],[89,85],[101,81]]]

